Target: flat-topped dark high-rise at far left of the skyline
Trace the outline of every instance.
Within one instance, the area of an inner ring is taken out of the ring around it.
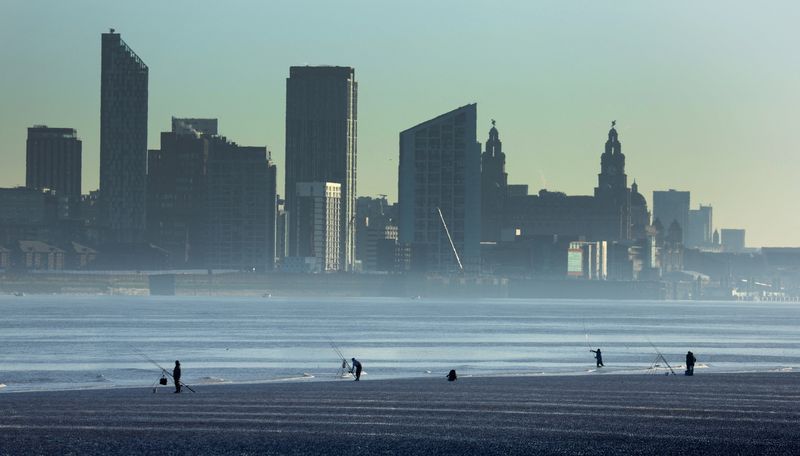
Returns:
[[[72,128],[28,128],[25,186],[56,195],[81,197],[81,140]]]

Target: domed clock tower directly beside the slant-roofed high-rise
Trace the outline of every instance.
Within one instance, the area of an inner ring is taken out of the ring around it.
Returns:
[[[492,119],[486,150],[481,156],[481,240],[499,241],[508,189],[506,154]]]

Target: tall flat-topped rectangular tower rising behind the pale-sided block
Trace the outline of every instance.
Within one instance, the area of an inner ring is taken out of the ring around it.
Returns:
[[[297,184],[341,184],[339,265],[355,261],[357,93],[350,67],[291,67],[286,80],[286,213],[289,255],[299,256],[294,216]]]

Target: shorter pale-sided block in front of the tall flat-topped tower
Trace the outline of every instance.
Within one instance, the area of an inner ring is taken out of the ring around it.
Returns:
[[[341,269],[339,220],[341,219],[342,186],[336,182],[298,182],[294,217],[297,230],[292,236],[291,250],[296,257],[315,258],[316,272]]]

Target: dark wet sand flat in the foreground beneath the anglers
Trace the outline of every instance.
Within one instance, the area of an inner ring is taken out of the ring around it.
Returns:
[[[800,454],[800,374],[0,394],[0,454]]]

